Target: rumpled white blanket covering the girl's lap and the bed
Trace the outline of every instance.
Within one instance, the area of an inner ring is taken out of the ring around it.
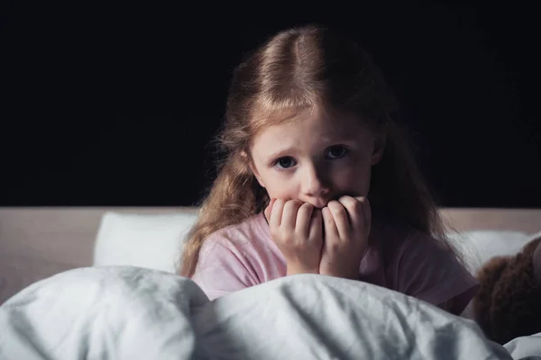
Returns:
[[[32,284],[0,307],[0,359],[14,360],[511,359],[541,355],[538,337],[516,339],[509,354],[470,320],[320,275],[209,302],[177,275],[91,267]]]

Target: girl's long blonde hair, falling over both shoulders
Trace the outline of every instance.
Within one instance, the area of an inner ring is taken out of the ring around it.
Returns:
[[[384,156],[372,168],[372,206],[396,214],[451,248],[412,150],[391,117],[396,101],[380,69],[344,34],[306,25],[280,31],[234,70],[225,123],[217,137],[225,158],[188,233],[180,275],[193,275],[210,234],[259,213],[269,202],[249,166],[254,134],[317,106],[353,113],[373,129],[386,130]]]

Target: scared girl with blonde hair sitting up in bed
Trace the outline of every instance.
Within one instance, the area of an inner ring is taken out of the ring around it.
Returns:
[[[353,40],[281,31],[236,68],[227,157],[180,275],[212,300],[286,275],[384,286],[459,314],[478,284],[391,119],[394,98]]]

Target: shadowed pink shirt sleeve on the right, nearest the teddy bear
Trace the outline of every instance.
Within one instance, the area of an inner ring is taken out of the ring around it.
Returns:
[[[473,275],[453,254],[433,238],[420,233],[404,241],[397,270],[400,293],[456,315],[462,313],[479,287]]]

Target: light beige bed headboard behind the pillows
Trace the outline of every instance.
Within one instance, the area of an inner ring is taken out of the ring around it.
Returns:
[[[91,266],[94,242],[106,211],[195,212],[196,208],[2,208],[0,209],[0,303],[38,280]],[[541,230],[541,209],[442,209],[459,231]]]

